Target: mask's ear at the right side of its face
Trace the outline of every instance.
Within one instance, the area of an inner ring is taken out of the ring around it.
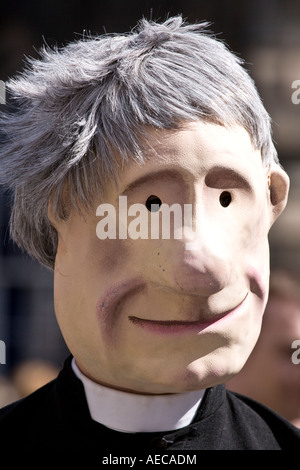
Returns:
[[[268,173],[271,204],[271,225],[284,210],[290,187],[286,172],[277,163],[273,163]]]

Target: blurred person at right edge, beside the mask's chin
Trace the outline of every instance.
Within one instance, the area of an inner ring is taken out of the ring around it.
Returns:
[[[300,428],[300,354],[292,347],[296,340],[300,340],[300,282],[286,271],[273,271],[261,334],[227,388],[264,403]]]

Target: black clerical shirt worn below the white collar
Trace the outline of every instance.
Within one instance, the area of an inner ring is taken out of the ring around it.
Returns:
[[[0,409],[2,455],[10,448],[96,451],[99,459],[140,452],[300,450],[299,429],[265,406],[228,391],[225,385],[207,389],[193,422],[180,430],[113,431],[91,419],[71,359],[65,361],[55,380]]]

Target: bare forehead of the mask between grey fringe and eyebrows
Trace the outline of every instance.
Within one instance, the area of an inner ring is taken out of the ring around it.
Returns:
[[[188,123],[179,130],[149,130],[144,162],[128,163],[118,174],[118,186],[167,168],[204,173],[211,167],[224,166],[228,171],[236,168],[245,175],[248,172],[249,178],[255,180],[255,173],[263,168],[260,151],[255,151],[242,127],[233,128],[234,138],[229,138],[227,131],[223,126],[206,123]]]

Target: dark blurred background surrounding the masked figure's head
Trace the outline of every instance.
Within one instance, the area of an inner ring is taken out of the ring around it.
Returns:
[[[178,13],[189,22],[209,21],[218,37],[245,59],[274,120],[274,140],[291,178],[291,191],[286,211],[270,232],[271,268],[298,277],[300,104],[292,102],[292,83],[300,80],[299,0],[2,2],[0,80],[5,82],[20,71],[24,57],[36,57],[45,43],[63,45],[84,31],[126,32],[143,16],[165,20]],[[0,104],[2,110],[4,104]],[[33,365],[38,366],[38,361],[44,361],[48,380],[68,354],[54,315],[52,273],[20,253],[9,240],[9,215],[8,195],[0,193],[0,340],[6,344],[6,364],[0,364],[0,375],[4,384],[24,363],[34,360]],[[8,400],[12,399],[14,394],[8,391]]]

